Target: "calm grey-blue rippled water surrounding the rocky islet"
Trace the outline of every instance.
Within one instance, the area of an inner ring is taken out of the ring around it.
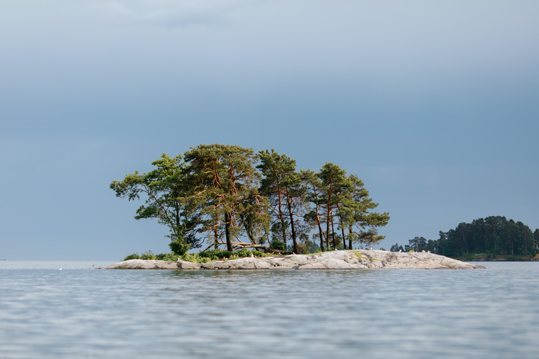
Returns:
[[[109,262],[0,261],[0,358],[539,355],[539,262],[462,271],[92,264]]]

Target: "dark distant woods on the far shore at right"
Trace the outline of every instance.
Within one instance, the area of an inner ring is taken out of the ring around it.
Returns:
[[[512,255],[534,256],[539,244],[539,229],[531,229],[522,222],[491,216],[474,219],[472,223],[460,223],[455,229],[440,231],[437,240],[415,237],[404,248],[398,244],[391,250],[428,251],[446,257],[466,255]]]

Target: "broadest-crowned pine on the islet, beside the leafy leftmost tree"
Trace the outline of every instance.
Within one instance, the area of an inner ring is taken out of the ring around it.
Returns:
[[[262,241],[270,217],[266,198],[258,193],[260,172],[253,149],[201,144],[185,153],[185,161],[190,198],[206,217],[204,228],[213,232],[214,241],[223,229],[227,250],[232,250],[232,238],[241,234],[252,243]]]

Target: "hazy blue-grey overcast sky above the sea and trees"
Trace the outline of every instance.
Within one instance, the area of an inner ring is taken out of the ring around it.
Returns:
[[[198,144],[364,180],[381,246],[539,227],[538,1],[3,0],[0,259],[167,252],[113,179]],[[380,246],[375,246],[379,248]]]

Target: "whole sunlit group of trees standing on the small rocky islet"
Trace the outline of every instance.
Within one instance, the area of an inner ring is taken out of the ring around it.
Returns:
[[[284,154],[224,144],[201,144],[174,158],[163,154],[148,173],[113,181],[116,196],[145,197],[135,219],[155,218],[170,230],[171,250],[256,248],[295,253],[352,243],[378,243],[389,213],[356,175],[326,163],[296,170]],[[314,233],[312,233],[314,232]],[[291,243],[290,245],[288,243]]]

